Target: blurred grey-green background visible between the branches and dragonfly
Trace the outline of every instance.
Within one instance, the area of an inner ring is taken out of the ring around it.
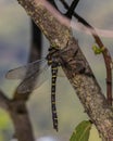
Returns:
[[[60,1],[56,3],[61,7]],[[79,13],[91,25],[101,29],[113,30],[113,1],[109,0],[81,0],[76,12]],[[74,20],[76,22],[76,20]],[[90,35],[73,30],[78,39],[91,68],[105,93],[105,68],[102,56],[96,56],[91,50],[95,43]],[[113,55],[113,40],[101,37],[103,43]],[[18,80],[5,79],[5,73],[27,62],[30,44],[30,22],[25,11],[14,0],[0,0],[0,89],[12,98]],[[48,42],[43,37],[43,52],[46,56]],[[48,74],[47,74],[48,75]],[[49,74],[50,76],[50,74]],[[27,102],[29,116],[36,138],[52,136],[56,141],[68,141],[74,128],[78,123],[88,119],[84,113],[83,105],[76,97],[72,86],[66,78],[59,78],[56,86],[56,106],[59,114],[59,132],[52,129],[50,107],[50,80],[48,77],[38,89],[34,91]],[[9,141],[14,134],[14,128],[9,114],[0,110],[0,141]],[[95,127],[91,130],[90,141],[100,141]],[[39,140],[37,140],[39,141]],[[47,140],[45,140],[47,141]],[[51,140],[49,140],[51,141]]]

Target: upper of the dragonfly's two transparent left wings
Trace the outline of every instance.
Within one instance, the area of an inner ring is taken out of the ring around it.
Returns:
[[[46,59],[41,59],[41,60],[37,60],[33,63],[28,63],[27,65],[11,69],[7,73],[5,78],[24,79],[26,77],[29,77],[35,72],[39,72],[39,69],[42,67],[45,62],[47,62]]]

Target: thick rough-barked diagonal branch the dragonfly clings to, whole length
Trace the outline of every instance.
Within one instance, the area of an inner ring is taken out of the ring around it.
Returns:
[[[105,141],[113,141],[113,110],[108,105],[76,39],[72,38],[70,21],[53,10],[46,0],[17,1],[39,26],[51,46],[62,49],[59,56],[62,67],[86,113]]]

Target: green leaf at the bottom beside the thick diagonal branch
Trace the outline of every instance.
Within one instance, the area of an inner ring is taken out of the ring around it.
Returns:
[[[81,121],[74,130],[70,141],[88,141],[91,129],[91,121]]]

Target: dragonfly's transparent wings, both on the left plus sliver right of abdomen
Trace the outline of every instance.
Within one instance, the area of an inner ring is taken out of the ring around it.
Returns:
[[[23,81],[17,87],[17,92],[27,93],[41,86],[43,81],[48,79],[51,70],[47,68],[48,64],[46,59],[37,60],[27,65],[9,70],[5,77],[8,79],[23,79]],[[64,76],[61,67],[59,68],[58,76]]]

